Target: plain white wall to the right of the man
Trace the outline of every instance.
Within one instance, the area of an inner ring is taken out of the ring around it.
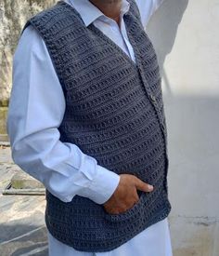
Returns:
[[[162,67],[174,256],[219,255],[218,27],[218,0],[165,0],[147,28]]]

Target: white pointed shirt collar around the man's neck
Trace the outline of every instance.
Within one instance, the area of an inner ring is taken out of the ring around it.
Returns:
[[[77,12],[79,12],[86,27],[100,17],[105,17],[105,18],[107,17],[89,0],[65,0],[65,2],[73,6],[77,10]],[[123,14],[128,12],[129,7],[130,7],[130,4],[127,2],[127,0],[122,0],[122,7],[121,7],[122,16]]]

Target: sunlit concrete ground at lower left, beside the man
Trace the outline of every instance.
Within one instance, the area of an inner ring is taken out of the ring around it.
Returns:
[[[10,148],[0,146],[0,255],[48,255],[45,195],[2,195],[16,172]]]

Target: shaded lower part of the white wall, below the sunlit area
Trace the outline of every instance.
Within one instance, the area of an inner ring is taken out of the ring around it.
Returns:
[[[219,255],[218,112],[216,96],[174,95],[165,105],[174,256]]]

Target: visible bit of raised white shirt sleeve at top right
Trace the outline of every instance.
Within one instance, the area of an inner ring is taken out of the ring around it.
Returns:
[[[148,21],[153,13],[161,6],[164,0],[135,0],[140,11],[140,16],[144,28],[148,25]]]

